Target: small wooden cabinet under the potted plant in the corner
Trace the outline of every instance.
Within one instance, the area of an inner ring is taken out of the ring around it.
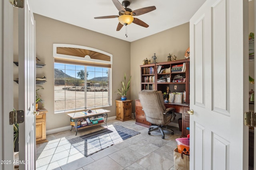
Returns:
[[[132,100],[116,100],[116,119],[120,121],[132,119]]]

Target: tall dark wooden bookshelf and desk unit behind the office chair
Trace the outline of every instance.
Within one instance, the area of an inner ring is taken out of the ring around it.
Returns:
[[[183,68],[183,63],[185,63]],[[172,68],[182,65],[181,70],[172,72]],[[158,70],[159,68],[159,70]],[[160,69],[161,68],[161,69]],[[161,71],[166,69],[167,72]],[[145,72],[148,70],[154,70],[154,72]],[[186,92],[184,97],[186,101],[182,99],[182,103],[165,103],[166,107],[174,107],[176,113],[182,114],[182,135],[181,137],[186,137],[189,131],[186,129],[189,127],[189,117],[190,115],[187,111],[190,109],[189,105],[189,59],[168,61],[162,63],[145,64],[140,66],[140,90],[160,90],[162,93],[166,92],[166,88],[169,87],[170,93],[173,92]],[[175,76],[182,76],[182,78],[175,78]],[[154,82],[145,82],[147,76],[154,76]],[[146,77],[146,78],[145,78]],[[169,81],[167,80],[169,78]],[[184,79],[185,78],[185,79]],[[159,82],[158,80],[163,80],[164,82]],[[179,81],[177,81],[179,80]],[[152,87],[152,88],[151,88]],[[184,94],[184,93],[183,93]],[[182,95],[183,95],[182,94]],[[140,100],[136,100],[136,124],[149,127],[150,122],[146,121],[145,113],[140,104]]]

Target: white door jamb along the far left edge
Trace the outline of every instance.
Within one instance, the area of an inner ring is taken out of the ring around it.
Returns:
[[[13,6],[0,1],[0,170],[14,169],[13,126]],[[5,161],[5,162],[4,162]]]

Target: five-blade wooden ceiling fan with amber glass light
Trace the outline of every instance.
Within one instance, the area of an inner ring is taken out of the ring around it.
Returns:
[[[156,9],[155,6],[149,6],[133,11],[130,8],[127,8],[128,6],[130,6],[130,2],[128,0],[124,0],[122,4],[118,0],[112,0],[112,2],[118,9],[119,16],[102,16],[94,17],[94,19],[118,18],[119,23],[117,25],[116,31],[119,31],[124,25],[129,25],[132,22],[147,28],[149,26],[148,24],[146,24],[142,20],[139,20],[138,18],[134,18],[134,16],[140,16]]]

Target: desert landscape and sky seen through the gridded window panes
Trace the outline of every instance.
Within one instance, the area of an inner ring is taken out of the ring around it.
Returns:
[[[110,68],[54,63],[54,112],[110,105]]]

